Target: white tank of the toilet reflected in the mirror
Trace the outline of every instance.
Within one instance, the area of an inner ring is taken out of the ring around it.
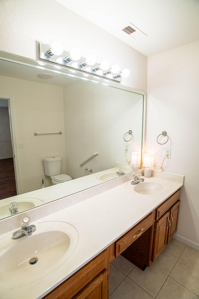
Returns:
[[[61,173],[62,157],[54,156],[43,158],[45,175],[52,176]]]

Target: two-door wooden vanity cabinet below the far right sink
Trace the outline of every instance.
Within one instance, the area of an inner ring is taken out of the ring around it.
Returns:
[[[156,208],[153,250],[151,255],[152,262],[155,261],[177,231],[180,207],[179,199],[180,189]]]

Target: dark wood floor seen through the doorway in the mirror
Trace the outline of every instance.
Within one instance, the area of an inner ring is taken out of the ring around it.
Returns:
[[[0,199],[15,195],[17,194],[13,158],[0,159]]]

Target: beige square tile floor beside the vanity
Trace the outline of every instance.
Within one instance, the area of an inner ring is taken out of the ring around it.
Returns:
[[[140,270],[119,256],[110,264],[109,299],[199,299],[199,251],[172,239]]]

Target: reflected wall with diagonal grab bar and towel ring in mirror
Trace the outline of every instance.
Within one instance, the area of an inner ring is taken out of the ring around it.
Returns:
[[[63,94],[66,165],[72,178],[88,175],[86,167],[96,173],[115,167],[115,161],[127,163],[125,144],[127,159],[132,151],[141,152],[142,95],[78,79],[65,86]],[[133,138],[125,142],[129,130]],[[79,166],[97,150],[99,156]]]

